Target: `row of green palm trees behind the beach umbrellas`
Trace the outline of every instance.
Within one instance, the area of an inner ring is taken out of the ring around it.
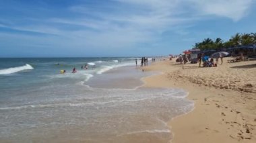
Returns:
[[[226,42],[224,42],[221,38],[216,38],[215,40],[205,38],[202,42],[195,43],[193,48],[199,48],[200,50],[220,50],[222,48],[232,48],[235,46],[246,46],[252,44],[256,44],[256,33],[236,33]]]

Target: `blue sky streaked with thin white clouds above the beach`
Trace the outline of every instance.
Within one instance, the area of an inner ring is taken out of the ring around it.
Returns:
[[[256,0],[0,0],[0,57],[162,56],[256,32]]]

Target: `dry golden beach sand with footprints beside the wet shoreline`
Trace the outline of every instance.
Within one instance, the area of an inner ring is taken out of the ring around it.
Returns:
[[[143,70],[146,87],[181,88],[195,109],[170,121],[172,142],[256,142],[256,61],[199,68],[162,60]]]

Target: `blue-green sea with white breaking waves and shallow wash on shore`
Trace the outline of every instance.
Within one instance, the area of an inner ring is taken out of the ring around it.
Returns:
[[[193,102],[143,87],[155,74],[132,57],[0,58],[0,142],[168,142]]]

